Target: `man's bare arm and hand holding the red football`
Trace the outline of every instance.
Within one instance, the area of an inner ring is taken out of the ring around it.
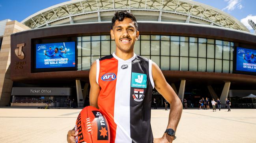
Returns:
[[[100,87],[98,83],[96,82],[96,62],[94,62],[91,66],[90,73],[89,73],[89,79],[90,79],[90,106],[98,108],[98,96],[100,92]],[[68,143],[76,143],[75,136],[77,136],[78,132],[75,131],[75,128],[73,130],[69,130],[67,133],[67,142]]]

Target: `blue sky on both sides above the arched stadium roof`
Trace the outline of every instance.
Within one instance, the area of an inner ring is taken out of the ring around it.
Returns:
[[[21,22],[26,17],[68,0],[0,0],[0,20],[11,19]],[[253,32],[247,19],[256,22],[256,0],[194,0],[220,9],[241,21]]]

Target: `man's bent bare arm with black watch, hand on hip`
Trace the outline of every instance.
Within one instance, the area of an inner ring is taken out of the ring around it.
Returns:
[[[165,80],[161,69],[154,62],[152,62],[152,76],[155,89],[170,103],[169,121],[166,129],[171,128],[176,131],[179,119],[181,118],[182,103],[172,87]],[[172,143],[173,140],[174,137],[164,133],[162,138],[154,139],[154,143]]]

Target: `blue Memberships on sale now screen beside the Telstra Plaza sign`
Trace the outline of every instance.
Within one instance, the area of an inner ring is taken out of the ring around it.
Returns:
[[[75,67],[75,42],[36,44],[36,69]]]

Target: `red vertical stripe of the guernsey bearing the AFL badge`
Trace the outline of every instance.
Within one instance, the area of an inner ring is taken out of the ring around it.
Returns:
[[[116,123],[114,122],[114,101],[116,91],[116,76],[118,72],[118,60],[112,57],[109,59],[100,60],[99,63],[100,72],[98,80],[101,91],[98,96],[98,106],[107,118],[110,127],[110,143],[114,143],[116,138]],[[115,76],[113,74],[115,74]]]

